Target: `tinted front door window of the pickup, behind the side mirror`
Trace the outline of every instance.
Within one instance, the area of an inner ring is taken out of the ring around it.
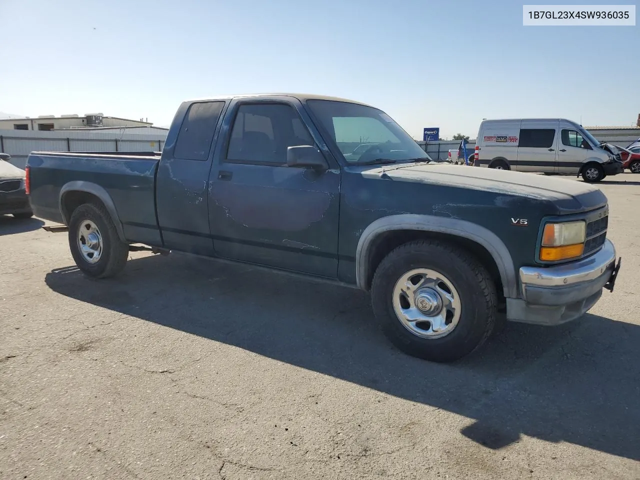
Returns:
[[[298,112],[287,104],[241,104],[229,139],[227,160],[284,165],[287,148],[315,145]]]

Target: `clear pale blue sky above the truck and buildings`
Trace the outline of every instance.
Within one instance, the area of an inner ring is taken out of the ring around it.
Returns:
[[[513,0],[0,0],[0,19],[0,111],[20,115],[168,125],[185,99],[308,92],[475,138],[482,118],[640,113],[640,26],[524,27]]]

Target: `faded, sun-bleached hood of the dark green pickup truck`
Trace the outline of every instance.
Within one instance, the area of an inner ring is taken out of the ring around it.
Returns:
[[[422,163],[364,166],[358,170],[360,168],[365,178],[492,191],[498,197],[520,196],[537,202],[546,200],[556,207],[556,214],[584,212],[607,204],[607,197],[598,188],[581,181],[535,173]]]

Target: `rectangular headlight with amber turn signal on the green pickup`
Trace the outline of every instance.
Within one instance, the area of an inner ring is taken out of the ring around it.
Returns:
[[[584,251],[586,223],[584,221],[566,221],[547,223],[542,234],[540,260],[557,262],[580,257]]]

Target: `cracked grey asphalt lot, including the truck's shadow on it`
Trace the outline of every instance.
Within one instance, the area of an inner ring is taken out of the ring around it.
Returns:
[[[615,291],[448,365],[355,289],[138,252],[88,280],[0,216],[0,479],[638,479],[640,175],[599,187]]]

